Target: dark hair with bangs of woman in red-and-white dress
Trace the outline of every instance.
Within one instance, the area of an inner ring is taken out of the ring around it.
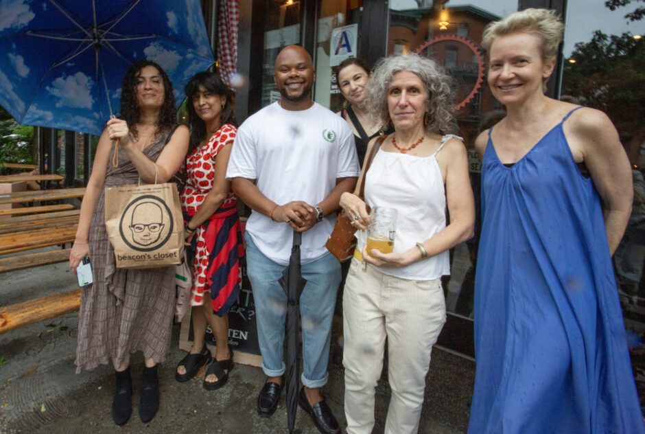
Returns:
[[[206,139],[206,124],[196,113],[195,106],[193,105],[193,96],[199,92],[200,85],[210,93],[226,98],[226,104],[224,104],[224,108],[220,114],[220,124],[237,126],[235,110],[233,108],[233,92],[228,89],[228,86],[226,86],[226,83],[224,83],[218,74],[209,71],[196,73],[184,87],[184,92],[186,93],[186,109],[188,110],[188,125],[190,127],[189,154],[199,146],[200,141]]]

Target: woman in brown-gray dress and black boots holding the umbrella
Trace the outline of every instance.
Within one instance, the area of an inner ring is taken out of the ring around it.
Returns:
[[[142,351],[145,358],[141,421],[152,420],[159,408],[156,364],[170,346],[175,286],[172,267],[116,268],[105,226],[105,187],[137,184],[139,179],[165,183],[179,169],[189,141],[188,128],[176,126],[172,83],[159,65],[148,60],[132,65],[121,89],[121,119],[110,119],[99,139],[69,256],[74,272],[89,256],[94,281],[81,295],[76,372],[112,362],[112,417],[117,425],[128,422],[132,413],[133,352]],[[118,165],[110,163],[117,158]]]

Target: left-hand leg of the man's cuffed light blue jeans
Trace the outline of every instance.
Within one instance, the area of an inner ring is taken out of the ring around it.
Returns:
[[[253,289],[257,338],[262,354],[262,370],[270,377],[285,372],[282,345],[285,334],[287,296],[278,283],[286,266],[273,262],[246,236],[246,266]]]

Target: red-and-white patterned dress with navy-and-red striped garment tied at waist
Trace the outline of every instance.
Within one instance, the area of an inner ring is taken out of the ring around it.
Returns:
[[[207,144],[193,150],[187,157],[187,180],[181,194],[181,210],[186,221],[195,215],[211,191],[215,158],[224,145],[233,141],[236,133],[234,126],[225,124]],[[209,291],[213,312],[222,317],[239,294],[239,260],[244,256],[237,198],[233,192],[228,192],[218,210],[197,228],[191,250],[195,252],[191,306],[204,304],[204,292]]]

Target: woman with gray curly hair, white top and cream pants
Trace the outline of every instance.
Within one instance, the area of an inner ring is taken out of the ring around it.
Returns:
[[[441,67],[417,54],[384,58],[368,95],[371,115],[384,124],[389,118],[395,132],[370,142],[354,194],[340,198],[360,229],[342,300],[347,433],[372,431],[386,339],[392,398],[385,432],[416,433],[430,352],[445,323],[441,276],[450,273],[448,249],[473,234],[473,193],[466,148],[449,134],[456,124]],[[391,253],[366,247],[373,216],[366,205],[396,209]]]

